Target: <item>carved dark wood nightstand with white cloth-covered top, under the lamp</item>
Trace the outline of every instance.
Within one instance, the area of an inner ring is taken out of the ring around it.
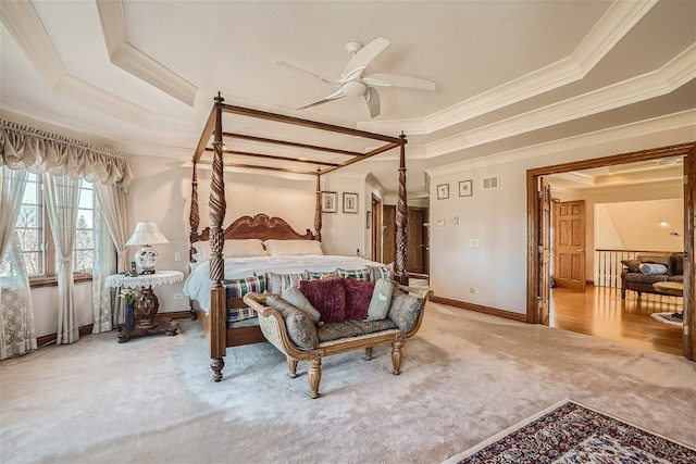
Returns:
[[[107,277],[107,287],[126,287],[137,289],[140,292],[140,297],[138,297],[134,305],[137,324],[135,327],[123,327],[119,330],[119,343],[125,343],[132,338],[146,335],[176,335],[176,324],[172,321],[153,321],[160,308],[160,302],[154,291],[152,291],[152,287],[158,285],[172,285],[183,279],[184,273],[181,271],[158,271],[154,274],[134,277],[114,274]]]

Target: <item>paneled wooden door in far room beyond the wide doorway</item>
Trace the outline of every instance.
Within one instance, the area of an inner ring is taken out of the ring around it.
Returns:
[[[585,291],[585,200],[556,203],[554,280],[557,287]]]

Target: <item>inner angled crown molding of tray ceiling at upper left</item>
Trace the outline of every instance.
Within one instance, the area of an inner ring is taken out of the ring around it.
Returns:
[[[198,87],[128,42],[122,0],[97,0],[97,11],[113,65],[194,106]]]

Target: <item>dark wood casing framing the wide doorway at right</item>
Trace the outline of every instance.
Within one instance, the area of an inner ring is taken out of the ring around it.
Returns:
[[[540,243],[538,237],[543,235],[543,225],[539,221],[538,185],[544,176],[582,171],[600,166],[633,163],[638,161],[657,160],[666,156],[684,158],[684,330],[683,355],[696,361],[696,283],[694,273],[694,225],[696,215],[696,149],[693,142],[658,149],[643,150],[638,152],[623,153],[613,156],[605,156],[593,160],[584,160],[552,166],[538,167],[527,171],[527,301],[526,321],[539,324],[538,301],[540,266],[538,250]],[[692,181],[688,181],[692,180]]]

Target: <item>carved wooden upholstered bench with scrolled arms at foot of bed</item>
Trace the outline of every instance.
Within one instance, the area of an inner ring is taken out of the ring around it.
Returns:
[[[375,288],[373,300],[386,302],[377,290],[378,287]],[[391,373],[399,375],[403,341],[412,337],[421,326],[425,303],[431,294],[430,290],[394,286],[383,318],[373,316],[325,323],[320,321],[324,316],[313,314],[311,305],[309,312],[301,310],[277,293],[247,293],[244,301],[259,314],[259,325],[264,337],[286,355],[291,378],[297,377],[298,362],[308,361],[310,394],[319,398],[322,358],[331,354],[364,349],[365,359],[370,360],[373,347],[391,343]],[[286,299],[293,301],[290,298]],[[350,298],[347,300],[351,304]],[[297,304],[302,306],[306,302]],[[348,314],[352,310],[345,308]]]

